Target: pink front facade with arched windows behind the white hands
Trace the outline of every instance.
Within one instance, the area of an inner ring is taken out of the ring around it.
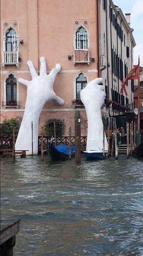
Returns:
[[[97,5],[100,8],[100,2],[92,0],[84,0],[82,4],[76,0],[16,0],[14,3],[2,0],[1,122],[4,118],[23,117],[27,88],[18,78],[31,80],[27,61],[31,60],[39,73],[39,58],[44,56],[47,74],[57,63],[61,64],[54,91],[65,104],[59,106],[52,101],[45,104],[39,133],[47,120],[56,118],[64,120],[65,136],[69,126],[74,135],[75,109],[79,109],[81,132],[83,136],[87,134],[85,108],[73,105],[72,101],[80,98],[80,90],[99,76]]]

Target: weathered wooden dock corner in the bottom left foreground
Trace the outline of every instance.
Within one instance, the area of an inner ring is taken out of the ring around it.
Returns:
[[[15,246],[16,234],[19,232],[19,226],[20,219],[1,219],[1,256],[13,256],[13,247]]]

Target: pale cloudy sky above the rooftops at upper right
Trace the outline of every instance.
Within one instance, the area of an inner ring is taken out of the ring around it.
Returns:
[[[134,47],[134,65],[138,64],[140,57],[140,66],[143,66],[143,0],[113,0],[125,15],[130,13],[130,27],[134,29],[133,36],[136,42]]]

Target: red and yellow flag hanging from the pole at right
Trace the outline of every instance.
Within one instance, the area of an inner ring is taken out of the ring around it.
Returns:
[[[126,88],[125,88],[125,84],[128,80],[131,80],[131,79],[139,79],[139,64],[136,65],[130,72],[129,74],[127,75],[127,77],[125,78],[124,82],[121,84],[121,90],[120,90],[120,93],[125,92],[126,95],[127,94],[127,91],[126,91]]]

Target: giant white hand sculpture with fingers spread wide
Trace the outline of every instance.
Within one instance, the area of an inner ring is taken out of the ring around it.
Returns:
[[[46,102],[53,100],[63,105],[64,100],[56,95],[53,90],[53,84],[57,73],[61,70],[61,65],[51,70],[49,75],[46,73],[46,60],[40,58],[40,75],[38,76],[32,61],[28,61],[27,65],[32,76],[31,81],[19,78],[21,84],[27,86],[27,98],[25,103],[25,112],[20,126],[18,137],[15,143],[15,150],[29,150],[26,154],[32,154],[32,128],[33,122],[33,154],[38,154],[38,126],[39,117]]]

